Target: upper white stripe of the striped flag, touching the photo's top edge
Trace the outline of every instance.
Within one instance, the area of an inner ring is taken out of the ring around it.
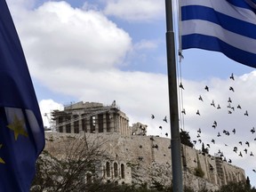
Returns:
[[[187,5],[201,5],[213,8],[216,12],[221,12],[238,20],[244,20],[256,25],[256,15],[254,12],[230,5],[224,0],[181,0],[181,6]]]

